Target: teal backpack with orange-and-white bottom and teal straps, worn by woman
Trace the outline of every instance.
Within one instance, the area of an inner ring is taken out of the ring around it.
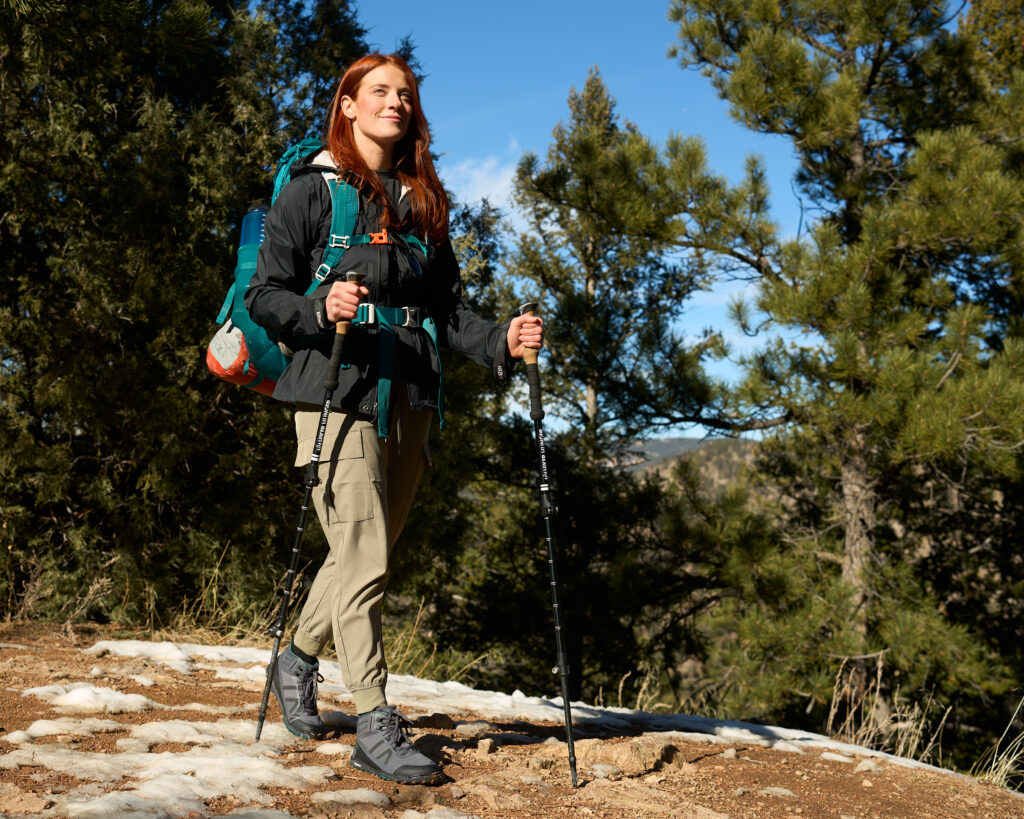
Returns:
[[[273,172],[273,193],[271,205],[278,201],[281,191],[292,180],[292,168],[314,152],[323,150],[318,137],[307,137],[292,145],[282,155]],[[324,171],[323,176],[331,190],[331,239],[324,249],[321,265],[313,275],[305,295],[321,286],[328,273],[341,261],[345,251],[356,245],[390,244],[387,231],[381,233],[353,234],[355,220],[359,213],[358,191],[341,179],[337,173]],[[234,277],[224,298],[224,304],[217,314],[220,329],[210,340],[206,351],[206,364],[217,378],[231,384],[240,384],[251,390],[270,395],[278,380],[288,367],[290,352],[278,343],[273,336],[250,317],[245,305],[246,291],[256,272],[256,257],[263,242],[263,219],[268,208],[265,203],[254,204],[243,219],[242,240],[239,244]],[[426,256],[427,246],[417,236],[401,234],[407,245],[416,247]],[[378,384],[379,419],[378,427],[382,437],[387,437],[388,393],[390,391],[390,371],[393,358],[393,326],[408,321],[406,308],[373,309],[360,305],[359,314],[353,325],[376,324],[390,333],[381,334],[381,380]],[[408,325],[407,325],[408,326]],[[434,348],[437,347],[437,330],[433,319],[425,318],[422,328],[427,331]],[[437,357],[440,362],[440,355]],[[344,364],[343,364],[344,365]],[[442,387],[443,390],[443,387]],[[438,406],[443,401],[443,393],[438,396]],[[441,415],[443,426],[443,415]]]

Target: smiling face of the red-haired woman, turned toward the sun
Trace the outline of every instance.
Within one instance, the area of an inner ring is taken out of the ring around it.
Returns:
[[[409,130],[413,89],[400,69],[387,63],[378,66],[362,78],[354,99],[342,97],[341,113],[351,120],[352,136],[364,157],[368,148],[371,155],[376,148],[390,158],[394,143]]]

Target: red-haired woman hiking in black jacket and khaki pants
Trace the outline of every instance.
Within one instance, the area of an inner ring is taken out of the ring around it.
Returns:
[[[427,331],[433,322],[440,341],[504,380],[512,359],[541,348],[543,326],[532,316],[498,326],[463,302],[447,200],[430,158],[416,81],[402,59],[370,54],[349,68],[326,132],[325,149],[293,169],[267,215],[246,294],[253,319],[296,350],[273,392],[296,404],[296,466],[310,461],[335,324],[357,314],[360,321],[390,317],[356,324],[346,338],[347,365],[334,393],[313,492],[330,553],[271,686],[292,733],[323,734],[316,658],[333,638],[359,715],[352,765],[398,782],[437,782],[440,769],[413,746],[401,716],[387,704],[381,639],[388,557],[428,464],[432,415],[443,408],[440,360]],[[355,233],[362,244],[331,240],[325,171],[358,189]],[[329,241],[354,246],[306,297]],[[366,277],[347,282],[349,271]],[[360,311],[360,303],[374,310]]]

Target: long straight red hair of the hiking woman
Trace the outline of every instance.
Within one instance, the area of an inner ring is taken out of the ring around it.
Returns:
[[[410,188],[413,223],[426,239],[444,239],[447,236],[447,195],[437,178],[437,171],[430,158],[430,128],[420,106],[416,77],[406,60],[395,54],[374,53],[367,54],[349,66],[338,83],[338,90],[328,111],[325,124],[327,149],[335,165],[346,171],[349,180],[360,189],[369,188],[370,198],[383,207],[384,226],[396,228],[398,216],[391,207],[384,185],[356,149],[352,138],[352,122],[341,111],[342,97],[355,99],[362,78],[381,66],[394,66],[401,71],[412,91],[413,116],[406,135],[394,145],[393,161],[395,175]]]

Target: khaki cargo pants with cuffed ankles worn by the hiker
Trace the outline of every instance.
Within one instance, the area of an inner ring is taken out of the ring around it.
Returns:
[[[332,412],[313,504],[330,553],[299,615],[294,642],[312,656],[334,638],[342,679],[358,714],[387,704],[381,603],[388,558],[426,467],[432,413],[414,411],[404,388],[392,391],[390,437],[376,423]],[[319,410],[295,413],[296,466],[309,464]]]

